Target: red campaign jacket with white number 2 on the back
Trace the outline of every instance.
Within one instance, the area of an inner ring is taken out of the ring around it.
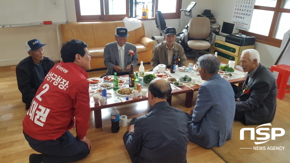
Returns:
[[[90,116],[87,76],[72,62],[54,65],[23,119],[23,131],[38,140],[56,139],[73,127],[75,117],[76,136],[82,139]]]

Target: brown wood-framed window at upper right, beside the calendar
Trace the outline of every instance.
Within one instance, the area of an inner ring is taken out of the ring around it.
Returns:
[[[284,33],[289,30],[290,0],[255,0],[248,31],[257,42],[280,47]]]

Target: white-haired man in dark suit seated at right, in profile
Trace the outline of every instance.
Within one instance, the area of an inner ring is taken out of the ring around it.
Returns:
[[[235,97],[239,97],[235,103],[234,119],[246,125],[268,123],[273,120],[276,111],[275,77],[268,68],[259,63],[259,53],[255,49],[243,50],[239,60],[247,76],[243,89],[232,85]]]

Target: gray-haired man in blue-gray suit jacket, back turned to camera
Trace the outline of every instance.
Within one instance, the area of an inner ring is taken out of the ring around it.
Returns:
[[[203,83],[198,91],[193,114],[187,114],[188,138],[211,148],[221,146],[231,138],[234,117],[234,93],[230,83],[218,74],[220,61],[212,54],[198,58]]]

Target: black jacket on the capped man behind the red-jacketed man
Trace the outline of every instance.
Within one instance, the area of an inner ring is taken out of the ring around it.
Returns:
[[[43,56],[42,63],[45,75],[53,67],[54,61],[48,57]],[[16,66],[16,78],[18,89],[22,93],[22,101],[30,104],[35,96],[36,90],[36,74],[33,66],[32,57],[28,56],[21,60]]]

